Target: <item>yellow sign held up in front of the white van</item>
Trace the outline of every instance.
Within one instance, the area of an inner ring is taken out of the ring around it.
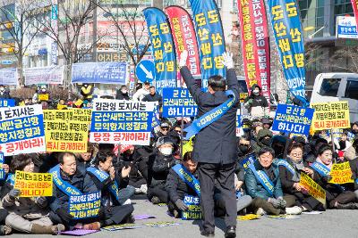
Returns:
[[[348,128],[351,126],[349,120],[348,102],[311,103],[314,114],[312,119],[312,130],[324,130],[333,128]]]

